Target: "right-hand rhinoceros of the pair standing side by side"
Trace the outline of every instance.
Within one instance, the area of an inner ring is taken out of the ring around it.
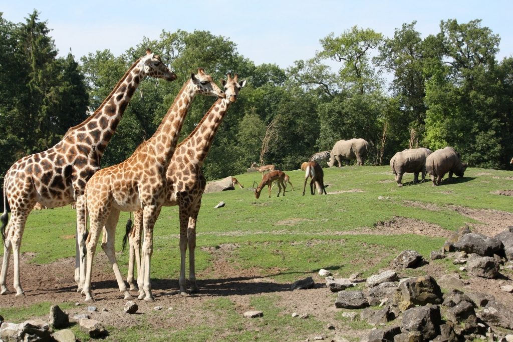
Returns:
[[[426,158],[426,170],[433,182],[433,187],[442,183],[443,176],[449,172],[449,178],[452,174],[463,177],[467,169],[466,163],[461,163],[460,154],[452,147],[445,147],[436,150]]]

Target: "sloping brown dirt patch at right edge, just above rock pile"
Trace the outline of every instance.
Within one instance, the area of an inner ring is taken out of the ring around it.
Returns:
[[[469,223],[471,230],[486,236],[495,236],[513,223],[513,213],[494,209],[471,209],[459,206],[448,208],[463,216],[475,219],[482,224]]]

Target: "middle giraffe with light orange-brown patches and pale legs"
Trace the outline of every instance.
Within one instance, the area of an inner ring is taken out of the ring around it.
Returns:
[[[150,285],[153,226],[168,192],[166,170],[175,151],[185,116],[196,94],[225,97],[225,93],[212,82],[212,77],[203,69],[198,69],[198,73],[192,73],[182,87],[153,136],[137,147],[124,162],[96,172],[87,183],[85,197],[90,229],[83,288],[86,301],[94,301],[91,293],[92,261],[102,227],[102,248],[112,265],[120,291],[124,293],[125,299],[132,299],[114,254],[114,235],[121,210],[141,210],[143,214],[145,240],[141,277],[144,284],[141,288],[144,290],[144,300],[154,301]]]

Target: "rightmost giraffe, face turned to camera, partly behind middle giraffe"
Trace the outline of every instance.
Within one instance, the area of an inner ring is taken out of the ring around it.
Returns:
[[[189,280],[192,292],[198,292],[196,275],[194,271],[194,249],[196,247],[196,219],[201,207],[201,199],[205,190],[206,180],[203,176],[202,167],[208,155],[212,141],[219,125],[228,111],[230,104],[237,100],[237,96],[246,81],[238,81],[238,75],[233,78],[228,74],[227,81],[222,80],[225,87],[226,98],[218,99],[208,110],[201,122],[180,143],[171,158],[167,169],[166,177],[169,187],[168,196],[164,206],[179,206],[180,211],[180,292],[186,294],[185,281],[185,252],[189,246]],[[141,270],[139,257],[139,246],[141,244],[143,212],[134,212],[134,228],[127,232],[129,234],[130,259],[128,268],[128,283],[133,284],[133,258],[135,256],[137,269]],[[126,236],[125,235],[125,238]],[[146,241],[145,241],[146,242]],[[144,265],[142,266],[144,268]],[[142,273],[139,272],[137,285],[141,291]]]

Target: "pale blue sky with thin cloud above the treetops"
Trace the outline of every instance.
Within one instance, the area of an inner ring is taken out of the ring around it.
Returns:
[[[513,2],[502,0],[0,0],[0,12],[13,23],[25,22],[34,9],[47,21],[60,55],[71,48],[76,60],[105,49],[117,56],[143,37],[157,39],[162,30],[181,29],[224,36],[256,65],[287,68],[313,57],[321,49],[319,40],[331,32],[338,36],[356,25],[392,37],[402,24],[417,21],[425,37],[438,33],[440,21],[447,19],[482,19],[483,27],[501,37],[498,59],[513,54]]]

